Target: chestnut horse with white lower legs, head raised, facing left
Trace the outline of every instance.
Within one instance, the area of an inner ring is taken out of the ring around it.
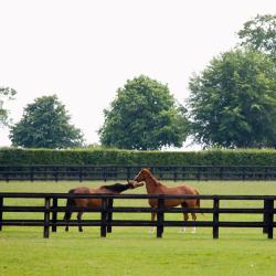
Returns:
[[[167,187],[160,183],[157,178],[148,170],[142,169],[135,178],[135,181],[146,182],[146,189],[148,194],[199,194],[199,191],[190,185]],[[180,205],[182,208],[200,208],[199,199],[168,199],[164,200],[166,208],[173,208]],[[157,208],[158,201],[156,199],[149,199],[149,205]],[[197,220],[195,213],[191,213],[193,221]],[[184,221],[189,220],[188,213],[183,212]],[[155,221],[156,213],[151,213],[151,221]],[[153,231],[153,227],[150,232]],[[185,232],[185,227],[181,232]],[[192,229],[192,233],[195,233],[195,227]]]

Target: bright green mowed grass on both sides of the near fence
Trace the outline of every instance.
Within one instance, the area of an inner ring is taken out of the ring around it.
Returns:
[[[107,182],[112,184],[115,181]],[[166,182],[178,185],[182,182]],[[103,182],[0,182],[2,192],[67,192],[76,185],[100,185]],[[276,194],[276,182],[204,181],[189,184],[202,194]],[[135,193],[145,193],[139,188]],[[6,204],[28,205],[40,200],[8,200]],[[61,202],[64,204],[64,202]],[[222,206],[262,206],[262,202],[226,201]],[[147,205],[142,200],[120,200],[115,205]],[[202,201],[211,206],[211,201]],[[63,214],[60,214],[61,219]],[[41,214],[4,214],[4,219],[42,217]],[[97,217],[85,214],[84,217]],[[116,219],[149,219],[149,214],[116,214]],[[198,214],[210,220],[211,214]],[[75,215],[74,215],[75,219]],[[181,214],[166,219],[181,220]],[[261,221],[262,215],[225,214],[221,220]],[[212,229],[198,229],[191,234],[178,227],[164,229],[156,238],[148,227],[114,227],[106,238],[98,227],[63,227],[43,238],[42,227],[3,227],[0,232],[0,275],[276,275],[276,240],[267,240],[261,229],[220,229],[220,238],[212,238]],[[276,235],[275,235],[276,238]]]

